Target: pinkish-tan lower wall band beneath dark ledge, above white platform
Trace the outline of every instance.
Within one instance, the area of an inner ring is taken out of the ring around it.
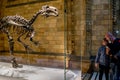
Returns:
[[[38,53],[15,52],[16,60],[19,64],[36,65],[43,67],[64,68],[64,56],[58,55],[45,55]],[[8,52],[0,54],[0,61],[10,62],[11,56]],[[66,66],[68,67],[68,58],[66,59]]]

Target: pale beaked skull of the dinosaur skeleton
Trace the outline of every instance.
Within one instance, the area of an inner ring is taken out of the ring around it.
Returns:
[[[58,10],[53,6],[48,5],[42,6],[42,11],[43,11],[42,15],[45,15],[46,17],[58,16]]]

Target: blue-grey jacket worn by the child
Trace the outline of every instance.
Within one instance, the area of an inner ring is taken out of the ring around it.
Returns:
[[[101,46],[98,50],[98,53],[96,55],[95,63],[99,63],[104,66],[109,66],[110,64],[110,57],[109,55],[106,55],[106,47]]]

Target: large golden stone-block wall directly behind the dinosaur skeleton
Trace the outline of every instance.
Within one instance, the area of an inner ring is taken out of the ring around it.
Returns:
[[[58,17],[39,16],[33,24],[36,34],[34,39],[39,41],[39,46],[33,45],[29,39],[22,39],[26,44],[30,45],[33,50],[26,54],[24,47],[17,42],[16,34],[14,36],[15,56],[19,63],[35,64],[40,66],[64,66],[64,1],[63,0],[4,0],[3,11],[4,16],[21,15],[26,19],[31,19],[43,5],[50,5],[58,8]],[[1,35],[0,35],[1,36]],[[24,37],[23,37],[24,38]],[[1,60],[10,61],[8,39],[4,35],[4,46],[1,50]],[[6,56],[6,57],[4,57]]]

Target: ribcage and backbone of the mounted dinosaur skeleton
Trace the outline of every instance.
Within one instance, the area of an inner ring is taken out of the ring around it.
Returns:
[[[9,21],[13,21],[17,24],[21,24],[23,26],[17,26],[14,24],[10,24]],[[28,36],[30,34],[29,26],[27,26],[28,20],[24,19],[21,16],[7,16],[0,20],[0,31],[5,33],[16,33],[18,35],[26,34]]]

